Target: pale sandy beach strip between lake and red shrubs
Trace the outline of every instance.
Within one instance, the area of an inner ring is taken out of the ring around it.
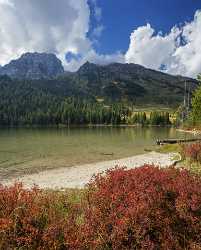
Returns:
[[[36,174],[25,175],[19,178],[5,180],[2,184],[12,185],[14,182],[22,182],[26,187],[32,187],[34,184],[40,188],[83,188],[94,174],[98,174],[115,166],[126,166],[135,168],[146,163],[155,164],[160,167],[167,167],[175,162],[176,153],[161,154],[150,152],[143,155],[123,158],[119,160],[103,161],[93,164],[85,164],[80,166],[52,169]]]

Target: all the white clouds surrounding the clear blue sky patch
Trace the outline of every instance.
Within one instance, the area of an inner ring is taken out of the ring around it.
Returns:
[[[96,20],[91,38],[90,15]],[[192,22],[173,27],[169,34],[155,34],[150,24],[139,27],[131,34],[125,55],[95,51],[93,46],[104,28],[97,0],[0,0],[0,64],[37,51],[55,53],[72,71],[89,60],[99,64],[132,62],[193,77],[201,72],[201,11]],[[72,58],[66,61],[68,52]]]

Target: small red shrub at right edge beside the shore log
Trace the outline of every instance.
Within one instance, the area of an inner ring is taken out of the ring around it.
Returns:
[[[192,162],[201,163],[201,143],[183,144],[182,154]]]

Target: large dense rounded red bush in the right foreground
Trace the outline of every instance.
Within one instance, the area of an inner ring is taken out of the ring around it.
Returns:
[[[89,185],[87,205],[90,249],[201,249],[201,179],[185,170],[108,171]]]

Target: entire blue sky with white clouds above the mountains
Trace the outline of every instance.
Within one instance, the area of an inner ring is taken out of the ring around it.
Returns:
[[[25,52],[83,63],[201,72],[201,0],[0,0],[0,65]]]

